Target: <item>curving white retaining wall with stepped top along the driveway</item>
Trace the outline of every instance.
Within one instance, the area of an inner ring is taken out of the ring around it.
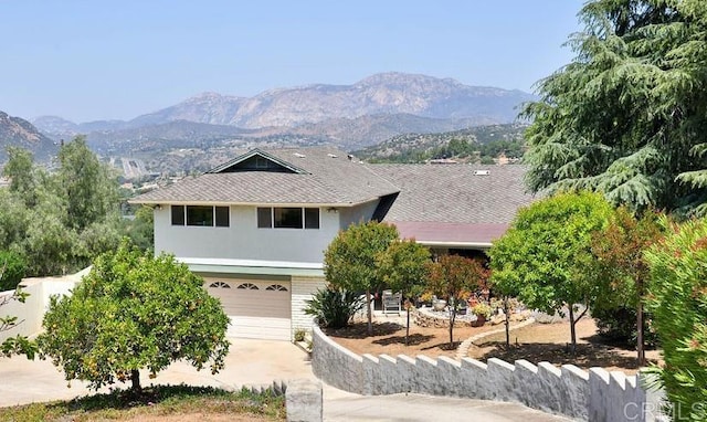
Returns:
[[[426,356],[358,356],[313,330],[312,369],[341,390],[366,394],[414,392],[431,395],[514,401],[549,413],[583,421],[655,421],[661,394],[641,388],[644,373],[627,377],[602,368],[589,371],[573,365],[515,365],[500,359],[483,363]]]

